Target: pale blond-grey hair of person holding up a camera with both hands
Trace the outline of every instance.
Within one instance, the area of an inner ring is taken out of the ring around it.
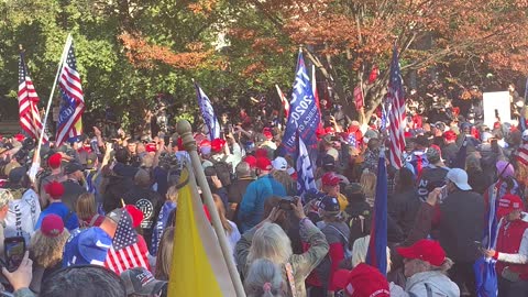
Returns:
[[[292,241],[280,226],[266,222],[253,235],[246,264],[251,265],[257,258],[267,258],[279,265],[288,262],[293,254]]]

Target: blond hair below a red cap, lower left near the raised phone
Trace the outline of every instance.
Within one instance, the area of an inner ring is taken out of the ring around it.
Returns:
[[[31,238],[30,251],[33,261],[44,268],[53,267],[63,260],[63,250],[68,238],[67,229],[64,229],[63,233],[55,238],[46,237],[41,230],[37,230]]]

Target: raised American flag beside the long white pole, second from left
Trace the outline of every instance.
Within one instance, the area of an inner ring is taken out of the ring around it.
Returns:
[[[57,146],[82,133],[81,116],[85,111],[85,99],[73,43],[67,53],[58,80],[63,103],[58,116]]]

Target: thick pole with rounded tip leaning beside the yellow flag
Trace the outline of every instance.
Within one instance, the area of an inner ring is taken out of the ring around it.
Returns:
[[[226,260],[226,263],[228,265],[229,275],[231,276],[231,280],[233,282],[237,296],[245,297],[244,287],[242,286],[239,271],[237,270],[237,265],[234,264],[228,239],[226,237],[226,231],[223,230],[222,223],[220,222],[217,207],[215,206],[215,201],[212,200],[211,189],[207,184],[206,175],[204,174],[204,169],[201,168],[201,162],[200,157],[198,156],[196,140],[193,138],[193,130],[190,123],[186,120],[180,120],[177,123],[176,130],[182,136],[185,151],[187,151],[190,155],[190,164],[193,165],[198,186],[201,189],[204,201],[206,202],[207,209],[211,215],[212,227],[215,228],[215,233],[217,234],[218,241],[220,242],[223,258]]]

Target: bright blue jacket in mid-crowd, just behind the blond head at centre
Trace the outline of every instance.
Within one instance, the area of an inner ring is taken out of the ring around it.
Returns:
[[[262,218],[264,213],[264,201],[272,196],[285,197],[286,189],[271,175],[261,176],[248,185],[239,210],[239,221],[242,233],[255,227],[264,219]]]

